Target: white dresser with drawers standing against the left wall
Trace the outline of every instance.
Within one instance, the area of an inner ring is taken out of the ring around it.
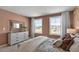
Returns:
[[[8,44],[13,45],[28,40],[28,32],[17,32],[8,34]]]

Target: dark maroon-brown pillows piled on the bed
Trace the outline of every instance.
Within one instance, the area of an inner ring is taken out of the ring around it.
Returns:
[[[74,38],[70,36],[70,34],[65,34],[65,36],[62,38],[63,43],[60,46],[63,50],[65,51],[69,51],[69,48],[71,47],[71,45],[74,43]]]

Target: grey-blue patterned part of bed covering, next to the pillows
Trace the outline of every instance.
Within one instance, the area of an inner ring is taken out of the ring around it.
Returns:
[[[53,44],[54,40],[46,40],[42,44],[40,44],[36,52],[64,52],[61,48],[54,47]]]

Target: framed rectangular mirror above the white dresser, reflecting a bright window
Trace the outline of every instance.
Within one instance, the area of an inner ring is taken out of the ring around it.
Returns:
[[[11,32],[21,32],[26,31],[27,27],[25,26],[25,23],[19,22],[16,20],[10,20],[10,31]]]

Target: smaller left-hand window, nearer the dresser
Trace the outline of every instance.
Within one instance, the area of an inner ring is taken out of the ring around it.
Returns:
[[[42,33],[42,19],[35,19],[35,33]]]

